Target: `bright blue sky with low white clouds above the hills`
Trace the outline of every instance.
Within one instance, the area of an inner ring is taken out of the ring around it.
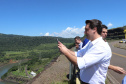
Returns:
[[[125,26],[125,10],[126,0],[0,0],[0,33],[74,38],[84,35],[85,20]]]

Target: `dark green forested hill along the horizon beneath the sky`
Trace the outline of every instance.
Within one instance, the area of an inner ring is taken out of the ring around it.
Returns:
[[[40,44],[56,43],[59,39],[63,43],[73,43],[73,38],[61,38],[51,36],[21,36],[12,34],[0,34],[0,51],[20,51],[32,49]]]

